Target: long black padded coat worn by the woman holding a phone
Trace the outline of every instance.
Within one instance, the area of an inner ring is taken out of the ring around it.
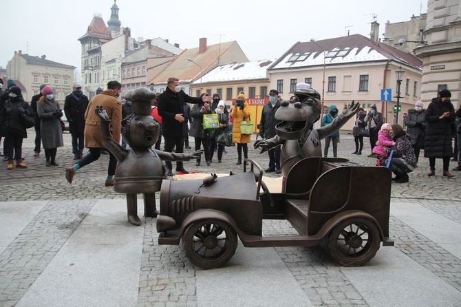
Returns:
[[[444,112],[451,112],[448,118],[439,119]],[[453,156],[451,123],[455,122],[455,109],[451,103],[444,102],[440,98],[433,98],[425,114],[426,158],[443,158]]]

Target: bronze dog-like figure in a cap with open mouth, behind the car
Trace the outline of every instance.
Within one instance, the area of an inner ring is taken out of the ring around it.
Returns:
[[[315,89],[297,89],[289,101],[283,100],[275,113],[275,119],[282,120],[275,126],[277,136],[270,139],[256,140],[255,149],[261,148],[261,154],[277,145],[283,144],[280,154],[280,167],[283,182],[288,171],[299,160],[308,157],[321,157],[323,138],[338,131],[347,120],[358,111],[359,103],[352,101],[350,107],[344,109],[333,122],[325,127],[314,129],[313,125],[320,118],[320,94]],[[285,191],[283,187],[282,191]]]

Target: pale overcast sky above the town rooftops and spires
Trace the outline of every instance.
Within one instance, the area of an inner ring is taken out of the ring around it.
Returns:
[[[271,4],[277,3],[277,4]],[[380,38],[387,21],[409,21],[427,12],[427,0],[117,0],[118,17],[135,39],[169,39],[181,49],[237,41],[250,61],[275,59],[294,43],[350,34],[369,36],[373,14]],[[106,22],[114,0],[1,1],[0,66],[14,51],[45,54],[50,61],[81,68],[83,36],[95,13]]]

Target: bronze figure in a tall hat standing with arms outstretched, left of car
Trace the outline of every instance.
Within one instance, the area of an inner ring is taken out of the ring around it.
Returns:
[[[155,193],[160,191],[163,179],[167,179],[163,160],[189,161],[200,157],[202,151],[191,154],[175,154],[152,149],[160,136],[160,123],[151,116],[151,102],[156,94],[140,87],[127,93],[132,102],[133,113],[122,119],[122,137],[129,145],[124,149],[111,138],[109,118],[101,106],[95,109],[101,122],[103,145],[117,158],[114,190],[127,194],[128,221],[141,224],[138,217],[137,194],[144,195],[144,216],[156,217]]]

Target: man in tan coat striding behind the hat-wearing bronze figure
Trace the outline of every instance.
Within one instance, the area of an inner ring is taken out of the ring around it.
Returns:
[[[85,147],[89,149],[88,154],[78,160],[73,167],[65,170],[65,178],[69,183],[72,183],[75,172],[85,165],[99,159],[101,151],[105,149],[102,136],[101,125],[98,116],[94,112],[96,105],[102,105],[103,110],[107,112],[107,116],[111,120],[111,131],[114,131],[112,138],[116,142],[120,142],[120,129],[122,125],[122,103],[118,100],[118,96],[122,92],[122,85],[118,81],[110,81],[107,83],[107,89],[96,95],[89,101],[87,111],[85,112]],[[117,159],[114,155],[109,154],[109,166],[107,167],[107,180],[105,186],[114,185],[114,174],[117,167]]]

